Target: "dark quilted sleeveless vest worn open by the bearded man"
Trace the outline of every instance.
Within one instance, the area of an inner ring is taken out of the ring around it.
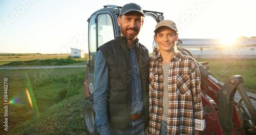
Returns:
[[[98,48],[101,50],[109,69],[109,95],[108,115],[110,127],[118,130],[127,130],[130,120],[131,100],[131,73],[129,53],[126,45],[126,38],[122,36],[106,42]],[[148,104],[148,50],[135,40],[135,51],[139,63],[143,115],[145,117],[145,128],[149,119]]]

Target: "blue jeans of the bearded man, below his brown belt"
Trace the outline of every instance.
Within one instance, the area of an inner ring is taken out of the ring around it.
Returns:
[[[129,127],[127,131],[120,131],[116,130],[114,128],[110,128],[111,134],[113,135],[145,135],[144,132],[144,116],[142,116],[140,119],[132,121],[129,121]]]

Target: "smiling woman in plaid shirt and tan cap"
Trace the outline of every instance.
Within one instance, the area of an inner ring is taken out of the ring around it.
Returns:
[[[149,134],[199,134],[203,130],[200,72],[196,61],[177,50],[172,20],[158,22],[155,41],[160,54],[150,62]]]

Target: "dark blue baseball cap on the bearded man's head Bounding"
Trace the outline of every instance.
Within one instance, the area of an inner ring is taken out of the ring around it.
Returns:
[[[126,13],[128,13],[128,12],[131,12],[131,11],[139,12],[139,13],[141,13],[142,16],[145,17],[142,8],[141,8],[139,5],[135,4],[135,3],[125,4],[125,5],[122,7],[119,16],[121,16],[121,15],[123,15],[123,14],[126,14]]]

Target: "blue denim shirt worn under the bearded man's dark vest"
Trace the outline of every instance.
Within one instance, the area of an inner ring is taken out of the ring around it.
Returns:
[[[131,115],[142,114],[143,101],[141,90],[141,79],[135,48],[128,49],[131,70]],[[108,123],[108,90],[109,90],[109,69],[106,60],[99,50],[95,57],[94,80],[94,108],[96,112],[95,122],[100,134],[111,134]],[[96,67],[96,66],[95,66]]]

